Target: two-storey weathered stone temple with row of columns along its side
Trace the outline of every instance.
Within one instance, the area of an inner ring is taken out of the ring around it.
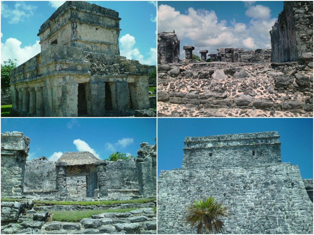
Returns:
[[[10,73],[12,114],[29,117],[130,115],[149,108],[154,66],[120,56],[119,13],[67,1],[41,25],[41,53]]]

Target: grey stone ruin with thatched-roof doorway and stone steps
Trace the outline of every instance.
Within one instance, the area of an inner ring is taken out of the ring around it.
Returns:
[[[139,210],[133,214],[122,213],[121,217],[129,217],[123,221],[118,218],[120,214],[117,214],[115,222],[115,215],[109,213],[95,215],[91,219],[84,218],[80,223],[73,225],[66,222],[49,223],[48,212],[45,211],[100,210],[115,207],[34,206],[31,200],[107,201],[156,198],[156,144],[140,144],[138,157],[124,161],[100,160],[90,152],[66,152],[56,162],[41,158],[27,161],[29,144],[30,138],[21,132],[1,134],[1,197],[22,201],[2,201],[1,233],[57,233],[54,230],[83,234],[121,231],[140,233],[148,230],[155,233],[156,218],[152,209]],[[129,207],[128,204],[120,203],[117,208],[154,206],[152,201],[133,203]],[[33,214],[41,216],[41,219],[36,216],[35,218]],[[102,222],[101,218],[104,217],[110,218],[103,219]]]

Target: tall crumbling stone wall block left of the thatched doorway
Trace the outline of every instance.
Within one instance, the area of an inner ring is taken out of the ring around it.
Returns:
[[[22,132],[1,133],[1,196],[22,196],[30,138]]]

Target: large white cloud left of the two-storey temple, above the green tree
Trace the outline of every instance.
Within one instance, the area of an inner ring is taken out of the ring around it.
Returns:
[[[5,43],[1,43],[1,63],[4,60],[17,59],[17,65],[21,65],[41,51],[39,41],[23,48],[21,44],[22,42],[16,38],[8,38]]]

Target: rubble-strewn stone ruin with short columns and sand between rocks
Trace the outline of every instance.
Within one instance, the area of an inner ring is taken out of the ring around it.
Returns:
[[[158,34],[158,115],[312,117],[313,2],[284,2],[270,36],[271,50],[220,48],[211,62],[200,50],[199,62],[193,46],[177,60],[176,34]]]

